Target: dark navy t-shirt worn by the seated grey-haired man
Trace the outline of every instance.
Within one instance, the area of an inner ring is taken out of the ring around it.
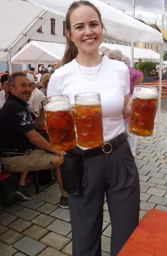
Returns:
[[[34,150],[32,144],[24,135],[35,129],[36,116],[29,105],[14,95],[9,95],[0,113],[0,148],[1,150],[24,153]]]

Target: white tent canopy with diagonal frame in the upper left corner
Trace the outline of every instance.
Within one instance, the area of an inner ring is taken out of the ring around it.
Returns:
[[[47,11],[20,0],[1,0],[1,7],[0,51],[10,51],[13,56],[45,22]]]

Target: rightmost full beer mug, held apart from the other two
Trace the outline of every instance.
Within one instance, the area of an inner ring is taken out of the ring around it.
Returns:
[[[151,86],[135,86],[131,106],[129,132],[138,136],[153,134],[158,89]]]

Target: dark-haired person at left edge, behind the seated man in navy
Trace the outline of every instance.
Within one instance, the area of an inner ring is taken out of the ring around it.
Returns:
[[[2,87],[2,91],[0,92],[0,110],[2,109],[5,101],[8,98],[8,79],[9,79],[9,75],[5,74],[1,77],[1,87]]]

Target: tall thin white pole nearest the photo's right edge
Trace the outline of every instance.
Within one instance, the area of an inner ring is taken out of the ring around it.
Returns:
[[[164,2],[161,0],[162,4],[162,19],[161,19],[161,34],[163,36],[163,19],[164,19]],[[163,45],[160,46],[160,59],[159,59],[159,97],[158,97],[158,123],[157,123],[157,143],[156,143],[156,153],[159,155],[159,133],[160,133],[160,107],[161,107],[161,88],[162,88],[162,56],[163,56]]]

